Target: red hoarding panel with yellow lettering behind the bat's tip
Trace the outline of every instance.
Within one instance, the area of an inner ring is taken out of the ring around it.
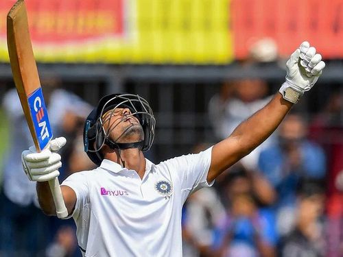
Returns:
[[[27,0],[32,41],[59,44],[93,40],[124,33],[124,0]],[[15,1],[0,1],[0,34],[5,35],[5,14]]]

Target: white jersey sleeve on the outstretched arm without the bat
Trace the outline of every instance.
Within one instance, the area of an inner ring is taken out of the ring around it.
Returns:
[[[211,165],[212,147],[199,154],[188,154],[168,160],[173,166],[174,176],[181,184],[182,191],[197,191],[213,182],[207,182],[207,174]]]

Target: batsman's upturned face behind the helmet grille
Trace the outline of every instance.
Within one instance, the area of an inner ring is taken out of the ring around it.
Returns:
[[[134,143],[144,139],[144,132],[139,120],[129,108],[115,108],[102,115],[106,135],[117,143]]]

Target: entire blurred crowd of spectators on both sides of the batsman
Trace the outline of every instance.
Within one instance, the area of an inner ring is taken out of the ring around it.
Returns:
[[[44,94],[54,136],[67,137],[60,181],[93,169],[82,129],[92,106],[46,79]],[[185,257],[343,256],[343,95],[331,93],[313,119],[294,110],[261,146],[193,193],[182,214]],[[0,256],[80,256],[73,221],[43,215],[35,184],[21,167],[32,145],[16,90],[3,96],[9,120],[2,156]],[[225,82],[209,102],[215,141],[270,101],[262,79]],[[253,128],[252,128],[253,129]],[[202,151],[215,142],[199,143]]]

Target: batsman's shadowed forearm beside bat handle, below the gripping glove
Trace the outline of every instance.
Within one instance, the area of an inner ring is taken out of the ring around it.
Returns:
[[[37,182],[36,191],[40,208],[46,215],[56,216],[56,207],[51,195],[49,182]]]

